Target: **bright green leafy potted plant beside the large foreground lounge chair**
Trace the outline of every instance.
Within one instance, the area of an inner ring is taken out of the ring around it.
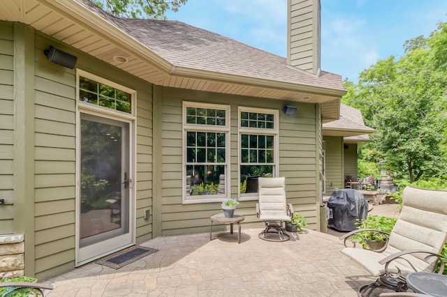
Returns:
[[[351,241],[356,241],[367,250],[380,250],[388,241],[388,234],[396,223],[396,218],[383,217],[381,215],[368,215],[364,220],[357,219],[357,229],[373,229],[360,231],[351,236]]]

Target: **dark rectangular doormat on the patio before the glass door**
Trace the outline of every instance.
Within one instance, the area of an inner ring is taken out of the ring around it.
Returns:
[[[158,250],[154,248],[146,248],[141,245],[135,245],[131,248],[127,248],[126,250],[115,252],[115,254],[110,254],[107,257],[98,259],[95,263],[118,269],[157,251]]]

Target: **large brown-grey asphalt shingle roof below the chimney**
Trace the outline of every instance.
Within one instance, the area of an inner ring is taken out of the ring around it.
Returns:
[[[282,56],[220,34],[173,20],[113,17],[90,1],[77,1],[175,67],[343,90],[340,75],[321,70],[316,77],[288,66]]]

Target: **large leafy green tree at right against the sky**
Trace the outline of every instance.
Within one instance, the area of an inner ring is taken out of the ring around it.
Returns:
[[[390,56],[362,71],[358,84],[346,81],[343,102],[378,131],[360,155],[385,160],[395,177],[413,182],[446,174],[446,24],[404,48],[399,60]]]

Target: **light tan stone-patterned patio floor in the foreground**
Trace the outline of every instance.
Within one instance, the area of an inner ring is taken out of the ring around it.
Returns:
[[[86,264],[45,283],[52,296],[357,296],[374,280],[317,231],[274,243],[261,229],[168,236],[142,243],[159,250],[118,270]]]

